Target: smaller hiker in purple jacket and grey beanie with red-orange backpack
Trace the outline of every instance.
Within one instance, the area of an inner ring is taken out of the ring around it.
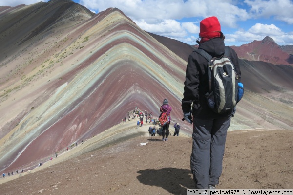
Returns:
[[[159,121],[163,127],[162,129],[162,141],[168,141],[168,135],[170,134],[169,131],[169,125],[171,122],[171,116],[170,113],[172,111],[172,107],[170,107],[170,105],[168,105],[168,99],[164,99],[163,101],[163,105],[160,107],[160,116],[159,116]],[[165,137],[166,135],[166,137]]]

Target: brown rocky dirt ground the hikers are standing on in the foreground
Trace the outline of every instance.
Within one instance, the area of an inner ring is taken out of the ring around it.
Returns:
[[[149,137],[149,124],[137,128],[133,123],[106,130],[41,167],[6,174],[1,194],[180,195],[194,188],[192,139],[181,134],[163,142]],[[293,188],[292,142],[292,130],[228,132],[217,188]]]

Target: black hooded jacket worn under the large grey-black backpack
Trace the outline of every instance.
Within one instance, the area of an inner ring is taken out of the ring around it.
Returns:
[[[225,43],[222,38],[213,38],[207,42],[201,43],[199,48],[204,49],[211,56],[220,56],[225,53]],[[234,49],[229,47],[230,59],[235,65],[235,71],[241,82],[241,71],[238,63],[238,56]],[[189,112],[193,103],[192,114],[196,118],[207,119],[210,117],[226,117],[231,112],[217,114],[213,112],[207,105],[205,94],[209,91],[208,81],[208,61],[193,51],[188,58],[186,68],[186,77],[184,82],[184,93],[182,99],[182,111]]]

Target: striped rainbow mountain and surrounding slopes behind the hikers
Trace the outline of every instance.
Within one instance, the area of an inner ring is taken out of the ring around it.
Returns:
[[[33,166],[136,106],[158,116],[168,98],[172,124],[181,120],[194,46],[147,33],[117,8],[95,15],[70,0],[0,7],[0,21],[0,170]],[[233,48],[245,95],[230,130],[292,129],[292,46],[266,37]]]

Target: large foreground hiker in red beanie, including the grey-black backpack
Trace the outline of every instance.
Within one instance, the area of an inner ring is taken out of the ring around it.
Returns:
[[[219,184],[227,130],[235,105],[241,99],[237,96],[241,72],[236,52],[225,47],[225,36],[216,17],[200,22],[199,38],[198,49],[188,58],[182,120],[193,123],[190,168],[195,188],[206,189]],[[214,66],[218,61],[223,64]],[[222,86],[217,88],[218,84]],[[215,96],[218,90],[222,96]],[[243,88],[239,91],[243,95]]]

